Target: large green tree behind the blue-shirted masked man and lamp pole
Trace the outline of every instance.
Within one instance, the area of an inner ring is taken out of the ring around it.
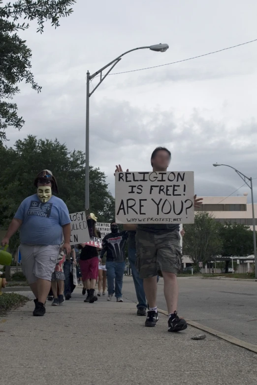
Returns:
[[[36,192],[33,181],[44,170],[52,171],[57,179],[59,197],[69,212],[85,208],[85,154],[69,151],[65,144],[29,135],[18,140],[14,147],[0,145],[0,229],[5,230],[17,208],[29,195]],[[99,222],[114,218],[114,198],[108,191],[105,175],[99,168],[90,167],[90,209]],[[14,244],[18,237],[13,238]]]

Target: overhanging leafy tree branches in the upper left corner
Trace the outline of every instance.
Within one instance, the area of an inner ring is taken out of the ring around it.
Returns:
[[[32,51],[16,31],[30,26],[17,20],[37,20],[37,32],[42,33],[44,22],[50,20],[52,26],[59,27],[60,17],[69,16],[70,5],[76,0],[18,0],[2,5],[0,0],[0,142],[6,140],[5,129],[13,126],[19,130],[25,121],[17,114],[17,105],[10,100],[20,89],[18,83],[25,80],[37,92],[41,87],[34,81],[30,71]]]

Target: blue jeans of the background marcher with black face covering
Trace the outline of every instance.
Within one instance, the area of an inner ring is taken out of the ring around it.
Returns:
[[[116,298],[122,297],[123,274],[125,262],[106,261],[108,294],[114,294]],[[115,281],[115,286],[114,286]]]

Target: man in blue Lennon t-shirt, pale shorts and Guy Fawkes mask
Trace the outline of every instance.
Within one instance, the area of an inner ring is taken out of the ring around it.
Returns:
[[[22,268],[35,296],[33,316],[45,314],[45,300],[51,287],[51,276],[64,235],[66,253],[70,253],[70,218],[58,194],[55,177],[43,170],[35,178],[37,194],[26,198],[18,208],[1,245],[20,228]]]

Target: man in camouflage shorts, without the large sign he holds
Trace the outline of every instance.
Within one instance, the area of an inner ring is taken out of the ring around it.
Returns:
[[[153,172],[166,172],[171,160],[167,148],[156,148],[151,156]],[[128,170],[127,170],[128,171]],[[116,172],[123,172],[116,166]],[[194,207],[199,207],[202,199],[194,196]],[[179,224],[139,224],[126,225],[130,231],[136,231],[136,266],[139,277],[144,280],[144,291],[149,303],[145,326],[154,327],[158,322],[157,311],[157,275],[161,270],[164,281],[164,296],[168,308],[168,331],[180,331],[187,328],[184,319],[179,318],[177,273],[181,267],[181,247]]]

